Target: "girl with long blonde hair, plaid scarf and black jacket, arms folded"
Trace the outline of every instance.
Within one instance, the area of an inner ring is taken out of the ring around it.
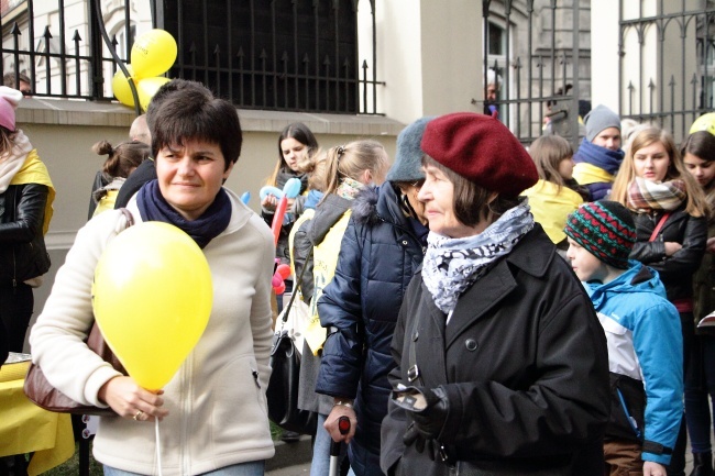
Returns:
[[[702,187],[685,170],[672,136],[648,128],[634,136],[612,199],[626,207],[636,222],[630,258],[659,273],[668,299],[680,313],[683,375],[688,375],[694,335],[692,278],[705,252],[710,210]],[[685,433],[683,419],[670,475],[684,474]]]

